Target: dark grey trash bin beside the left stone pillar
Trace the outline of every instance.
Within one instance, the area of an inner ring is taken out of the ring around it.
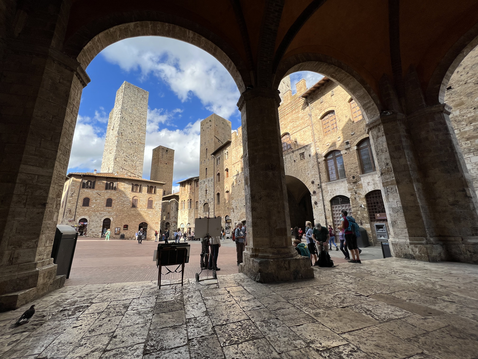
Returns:
[[[53,263],[57,265],[57,276],[66,275],[66,278],[70,278],[71,264],[73,263],[77,239],[78,233],[75,228],[65,224],[56,225],[52,258]]]

